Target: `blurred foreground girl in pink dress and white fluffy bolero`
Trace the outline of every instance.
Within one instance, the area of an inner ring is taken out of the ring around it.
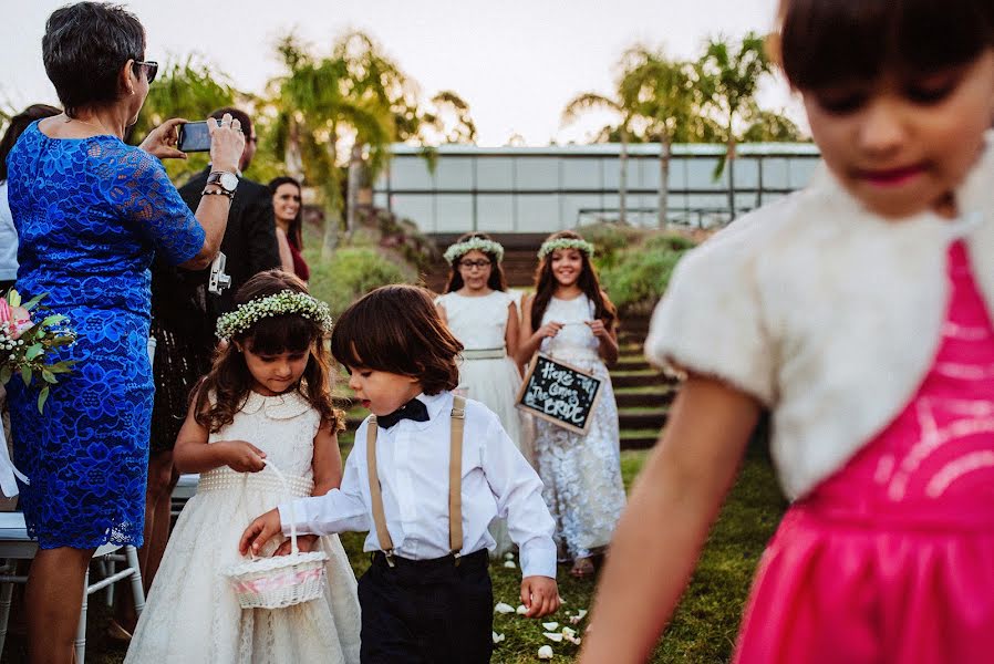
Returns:
[[[793,505],[735,661],[994,660],[994,3],[784,0],[825,173],[693,251],[646,354],[686,375],[581,662],[648,656],[762,408]]]

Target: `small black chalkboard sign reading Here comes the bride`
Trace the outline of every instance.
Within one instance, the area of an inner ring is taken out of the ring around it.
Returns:
[[[535,356],[515,406],[577,434],[590,428],[601,380],[541,353]]]

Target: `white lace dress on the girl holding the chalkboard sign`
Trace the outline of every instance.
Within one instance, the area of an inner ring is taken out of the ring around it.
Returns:
[[[536,418],[535,463],[546,485],[542,497],[556,519],[560,560],[601,552],[624,509],[618,406],[608,367],[598,354],[599,342],[584,324],[591,320],[593,304],[586,295],[552,298],[541,320],[565,325],[556,336],[542,340],[542,353],[603,380],[586,436]]]

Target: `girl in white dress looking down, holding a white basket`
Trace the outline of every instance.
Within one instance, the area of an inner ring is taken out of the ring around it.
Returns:
[[[173,531],[125,662],[358,663],[355,577],[338,536],[299,538],[300,550],[329,554],[328,588],[317,600],[244,611],[221,574],[242,562],[238,538],[252,517],[288,499],[262,459],[283,473],[292,497],[323,495],[342,476],[341,414],[322,343],[327,307],[277,270],[249,280],[236,302],[218,321],[228,345],[176,442],[176,467],[200,473],[197,494]],[[288,550],[273,539],[263,553]]]

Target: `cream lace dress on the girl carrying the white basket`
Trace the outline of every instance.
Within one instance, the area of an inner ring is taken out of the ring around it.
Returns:
[[[320,415],[297,393],[252,392],[235,422],[209,442],[247,440],[310,496]],[[288,498],[276,475],[216,468],[200,476],[148,592],[125,663],[358,663],[360,610],[355,575],[338,536],[319,541],[329,553],[323,599],[275,611],[242,611],[221,570],[240,562],[238,540],[257,516]],[[282,539],[282,538],[279,538]],[[263,553],[275,550],[275,539]]]

